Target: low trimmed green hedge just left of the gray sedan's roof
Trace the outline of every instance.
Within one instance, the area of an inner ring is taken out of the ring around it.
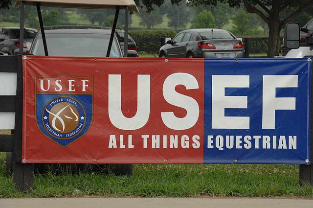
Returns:
[[[177,32],[175,30],[152,30],[152,29],[138,29],[138,30],[130,30],[130,36],[133,38],[173,38]]]

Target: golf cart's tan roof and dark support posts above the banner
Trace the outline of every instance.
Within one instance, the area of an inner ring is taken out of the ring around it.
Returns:
[[[125,11],[125,29],[124,37],[128,37],[128,17],[129,10],[139,12],[134,0],[17,0],[15,7],[20,7],[20,43],[23,43],[24,34],[24,17],[25,17],[25,5],[34,5],[37,7],[38,19],[40,24],[40,30],[43,38],[43,45],[45,50],[45,56],[48,56],[48,49],[45,38],[44,22],[41,14],[41,6],[47,7],[67,7],[67,8],[85,8],[85,9],[115,9],[115,17],[112,25],[112,33],[110,37],[110,42],[108,46],[108,51],[106,57],[110,56],[110,51],[112,47],[113,37],[115,34],[117,19],[119,16],[119,11],[124,9]],[[22,45],[22,44],[21,44]],[[128,57],[128,42],[127,39],[124,40],[124,57]],[[23,45],[20,46],[20,54],[23,54]],[[131,55],[134,55],[133,51],[130,51]]]

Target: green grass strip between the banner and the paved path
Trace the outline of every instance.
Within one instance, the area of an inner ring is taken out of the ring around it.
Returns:
[[[4,174],[0,153],[0,198],[21,197],[313,197],[298,185],[298,165],[136,164],[134,174],[36,175],[34,187],[20,192]]]

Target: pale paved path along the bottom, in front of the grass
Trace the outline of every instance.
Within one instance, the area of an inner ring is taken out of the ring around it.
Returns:
[[[277,198],[0,199],[0,208],[313,208],[313,200]]]

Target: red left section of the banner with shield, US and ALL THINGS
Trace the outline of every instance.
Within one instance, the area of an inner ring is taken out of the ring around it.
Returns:
[[[203,163],[203,59],[23,58],[26,163]]]

